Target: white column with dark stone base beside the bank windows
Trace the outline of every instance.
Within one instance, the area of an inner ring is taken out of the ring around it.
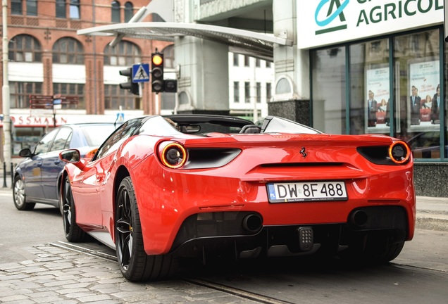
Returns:
[[[273,0],[274,34],[294,41],[293,46],[275,46],[275,84],[269,115],[311,125],[309,51],[297,49],[297,0]]]

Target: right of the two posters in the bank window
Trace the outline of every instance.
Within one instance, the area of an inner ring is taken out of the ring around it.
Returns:
[[[409,64],[408,125],[412,128],[440,124],[439,61]],[[435,128],[438,128],[435,126]]]

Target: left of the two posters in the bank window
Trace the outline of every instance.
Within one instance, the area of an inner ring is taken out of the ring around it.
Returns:
[[[366,70],[366,130],[382,132],[389,125],[389,67]]]

